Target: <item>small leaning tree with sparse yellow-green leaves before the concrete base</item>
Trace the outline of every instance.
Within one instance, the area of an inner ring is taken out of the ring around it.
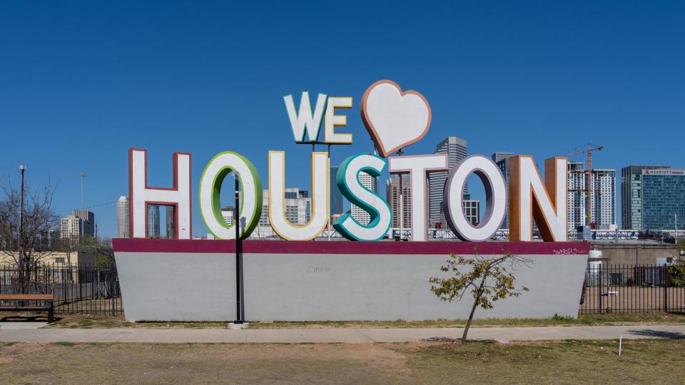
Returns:
[[[473,304],[469,319],[467,319],[462,335],[462,342],[466,341],[473,314],[476,307],[492,309],[493,302],[507,297],[518,297],[522,292],[527,292],[525,286],[516,288],[514,286],[514,274],[509,272],[505,265],[514,270],[516,265],[528,265],[531,260],[527,260],[510,252],[497,258],[486,258],[475,251],[474,257],[463,257],[450,253],[450,260],[446,265],[440,267],[442,272],[449,272],[452,277],[431,277],[432,283],[430,290],[440,297],[444,302],[461,301],[467,292],[473,296]],[[470,267],[468,272],[462,272],[464,267]]]

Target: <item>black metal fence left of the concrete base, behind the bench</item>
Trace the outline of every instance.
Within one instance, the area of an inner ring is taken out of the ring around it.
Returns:
[[[0,293],[22,291],[54,294],[56,314],[123,314],[116,267],[39,265],[22,285],[16,265],[0,265]]]

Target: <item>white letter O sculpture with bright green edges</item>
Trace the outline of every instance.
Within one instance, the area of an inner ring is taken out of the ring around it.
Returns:
[[[221,215],[219,200],[221,184],[233,171],[240,179],[240,215],[228,225]],[[262,215],[262,182],[255,166],[238,153],[226,151],[209,161],[200,178],[200,214],[202,220],[217,239],[235,239],[235,224],[240,226],[240,238],[250,236]],[[244,220],[243,220],[244,218]]]

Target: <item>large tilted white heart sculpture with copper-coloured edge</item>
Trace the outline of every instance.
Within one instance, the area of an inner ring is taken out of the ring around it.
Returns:
[[[426,98],[416,91],[402,92],[394,81],[377,81],[367,88],[361,109],[364,125],[383,157],[416,143],[430,127]]]

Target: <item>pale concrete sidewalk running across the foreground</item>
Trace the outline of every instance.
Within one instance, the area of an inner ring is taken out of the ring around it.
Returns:
[[[357,343],[421,342],[458,339],[462,328],[327,329],[14,329],[0,330],[0,342],[153,342],[153,343]],[[480,327],[469,339],[684,338],[685,325],[605,327]]]

